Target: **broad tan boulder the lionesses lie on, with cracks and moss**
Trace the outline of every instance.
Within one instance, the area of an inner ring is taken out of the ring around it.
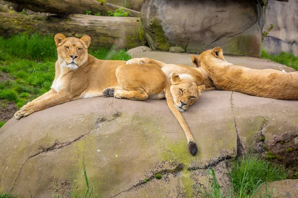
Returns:
[[[192,156],[165,100],[74,100],[12,118],[0,129],[0,189],[67,197],[84,191],[84,163],[100,197],[200,196],[194,184],[208,186],[209,166],[228,185],[228,161],[237,154],[254,149],[279,155],[274,160],[281,163],[297,161],[297,112],[298,101],[206,91],[183,113],[198,143]]]

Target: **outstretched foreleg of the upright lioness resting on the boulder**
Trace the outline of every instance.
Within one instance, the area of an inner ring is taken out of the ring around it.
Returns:
[[[19,111],[17,111],[14,114],[14,118],[20,119],[20,118],[28,116],[36,111],[41,111],[46,108],[55,106],[57,104],[62,104],[64,102],[71,101],[72,99],[75,99],[75,97],[71,96],[70,94],[66,94],[66,93],[60,91],[57,94],[53,94],[46,99],[28,102],[26,105],[21,107]]]

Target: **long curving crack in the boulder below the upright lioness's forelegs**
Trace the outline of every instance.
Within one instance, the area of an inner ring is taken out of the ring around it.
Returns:
[[[83,133],[82,135],[76,137],[73,141],[69,141],[69,142],[61,143],[61,142],[59,142],[58,140],[56,140],[56,141],[54,142],[54,144],[51,145],[51,146],[49,146],[49,147],[42,147],[42,146],[39,147],[40,151],[37,152],[37,153],[35,153],[35,154],[30,155],[30,156],[25,160],[25,162],[21,165],[21,168],[20,168],[20,170],[19,170],[19,172],[18,172],[18,174],[17,174],[17,176],[16,176],[16,178],[15,178],[15,180],[14,180],[14,183],[13,183],[12,188],[11,188],[10,191],[13,190],[13,188],[14,188],[14,186],[15,186],[15,184],[16,184],[16,181],[17,181],[17,179],[18,179],[18,177],[19,177],[19,175],[20,175],[20,173],[21,173],[21,171],[22,171],[23,166],[27,163],[27,161],[28,161],[29,159],[31,159],[31,158],[33,158],[33,157],[35,157],[35,156],[37,156],[37,155],[39,155],[39,154],[41,154],[41,153],[49,152],[49,151],[52,151],[52,150],[57,150],[57,149],[60,149],[60,148],[65,148],[65,147],[67,147],[67,146],[72,145],[73,143],[75,143],[75,142],[81,140],[81,139],[84,138],[86,135],[88,135],[88,134],[94,132],[96,129],[98,129],[98,128],[101,126],[101,123],[102,123],[102,122],[110,122],[110,121],[116,119],[117,117],[119,117],[119,116],[118,116],[119,113],[120,113],[120,115],[121,115],[121,112],[117,112],[117,113],[114,114],[113,117],[112,117],[111,119],[109,119],[109,120],[106,119],[106,118],[97,118],[97,120],[96,120],[96,122],[95,122],[95,124],[94,124],[94,127],[93,127],[90,131],[88,131],[88,132],[86,132],[86,133]]]

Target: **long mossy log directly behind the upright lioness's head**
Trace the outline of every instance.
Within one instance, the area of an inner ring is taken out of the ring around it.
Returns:
[[[108,17],[72,14],[68,17],[28,16],[0,12],[0,36],[21,32],[38,32],[54,36],[63,33],[67,37],[89,35],[91,46],[118,49],[135,48],[145,44],[139,36],[141,20],[137,17]]]

